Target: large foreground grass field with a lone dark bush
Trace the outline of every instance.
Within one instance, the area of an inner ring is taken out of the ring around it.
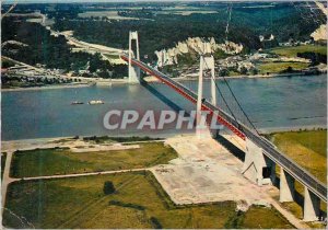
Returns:
[[[114,183],[115,194],[103,194],[105,181]],[[17,216],[24,217],[22,221]],[[3,225],[65,229],[293,228],[273,208],[256,206],[238,214],[232,202],[176,207],[150,172],[13,183]]]

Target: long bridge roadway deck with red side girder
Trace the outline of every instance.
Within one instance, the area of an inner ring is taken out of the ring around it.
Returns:
[[[121,55],[121,58],[128,61],[127,55]],[[143,71],[148,72],[151,76],[156,77],[160,81],[166,83],[168,87],[176,90],[179,94],[190,100],[192,103],[197,103],[197,94],[183,85],[179,82],[176,82],[172,78],[163,74],[162,72],[155,70],[154,68],[145,65],[144,62],[131,59],[131,64],[138,66]],[[202,110],[209,111],[210,114],[218,115],[218,122],[222,125],[230,128],[234,134],[245,140],[247,137],[258,147],[263,149],[263,153],[274,161],[277,164],[283,168],[285,172],[292,175],[295,180],[301,182],[304,186],[306,186],[309,191],[312,191],[316,196],[318,196],[321,200],[327,203],[327,187],[324,183],[319,182],[316,177],[314,177],[309,172],[305,169],[301,168],[296,162],[288,158],[285,154],[280,152],[277,147],[265,139],[263,137],[256,134],[253,129],[248,128],[239,120],[235,120],[233,116],[225,113],[222,108],[212,105],[210,102],[204,101],[202,103]]]

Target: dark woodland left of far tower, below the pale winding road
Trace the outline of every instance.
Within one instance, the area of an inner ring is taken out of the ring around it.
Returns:
[[[2,20],[2,42],[16,41],[22,44],[7,44],[2,55],[35,66],[45,65],[50,69],[78,71],[90,64],[90,72],[103,78],[122,78],[127,76],[125,65],[110,65],[99,54],[72,53],[63,35],[51,36],[50,32],[38,23],[25,22],[22,18],[4,18]],[[112,72],[110,74],[108,72]],[[85,76],[85,77],[92,77]]]

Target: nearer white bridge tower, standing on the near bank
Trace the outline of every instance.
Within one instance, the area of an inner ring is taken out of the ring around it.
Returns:
[[[198,78],[198,97],[197,97],[197,113],[196,113],[196,135],[199,138],[209,138],[211,137],[211,131],[207,125],[207,113],[201,110],[203,102],[202,97],[202,80],[203,71],[209,70],[211,73],[211,102],[216,105],[216,89],[215,89],[215,76],[214,76],[214,57],[211,56],[200,56],[199,64],[199,78]]]

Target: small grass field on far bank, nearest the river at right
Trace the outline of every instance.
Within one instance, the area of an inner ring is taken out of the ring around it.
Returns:
[[[260,73],[278,73],[283,70],[286,70],[289,67],[292,67],[294,70],[302,70],[308,67],[308,64],[305,62],[267,62],[259,64],[257,66]]]

